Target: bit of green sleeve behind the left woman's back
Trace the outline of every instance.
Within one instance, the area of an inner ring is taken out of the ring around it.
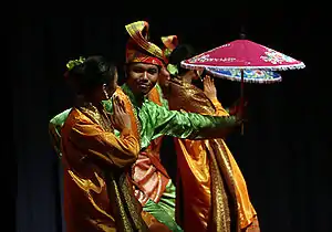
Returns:
[[[59,155],[59,157],[62,156],[61,154],[61,128],[68,118],[71,109],[66,109],[55,117],[53,117],[49,123],[49,133],[51,137],[51,143],[53,145],[53,148],[55,152]]]

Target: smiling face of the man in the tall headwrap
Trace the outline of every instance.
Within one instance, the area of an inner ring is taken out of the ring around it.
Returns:
[[[135,95],[146,95],[156,85],[160,67],[154,64],[131,63],[127,66],[127,85]]]

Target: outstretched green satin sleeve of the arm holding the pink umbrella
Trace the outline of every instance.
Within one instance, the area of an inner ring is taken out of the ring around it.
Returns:
[[[237,125],[235,116],[207,116],[194,113],[168,110],[152,102],[145,102],[139,112],[142,122],[142,140],[145,147],[147,139],[162,135],[188,139],[222,138],[226,133]]]

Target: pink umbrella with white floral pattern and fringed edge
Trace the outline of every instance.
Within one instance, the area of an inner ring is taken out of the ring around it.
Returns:
[[[245,86],[243,70],[283,71],[305,67],[304,63],[301,61],[297,61],[288,55],[249,40],[236,40],[208,52],[204,52],[183,61],[181,66],[190,70],[206,68],[207,72],[212,75],[220,70],[240,70],[242,104]],[[237,80],[235,78],[235,81]]]

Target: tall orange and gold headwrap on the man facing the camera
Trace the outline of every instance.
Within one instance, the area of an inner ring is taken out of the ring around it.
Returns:
[[[148,63],[164,66],[163,51],[148,39],[148,23],[145,21],[127,24],[131,35],[126,46],[126,63]]]

